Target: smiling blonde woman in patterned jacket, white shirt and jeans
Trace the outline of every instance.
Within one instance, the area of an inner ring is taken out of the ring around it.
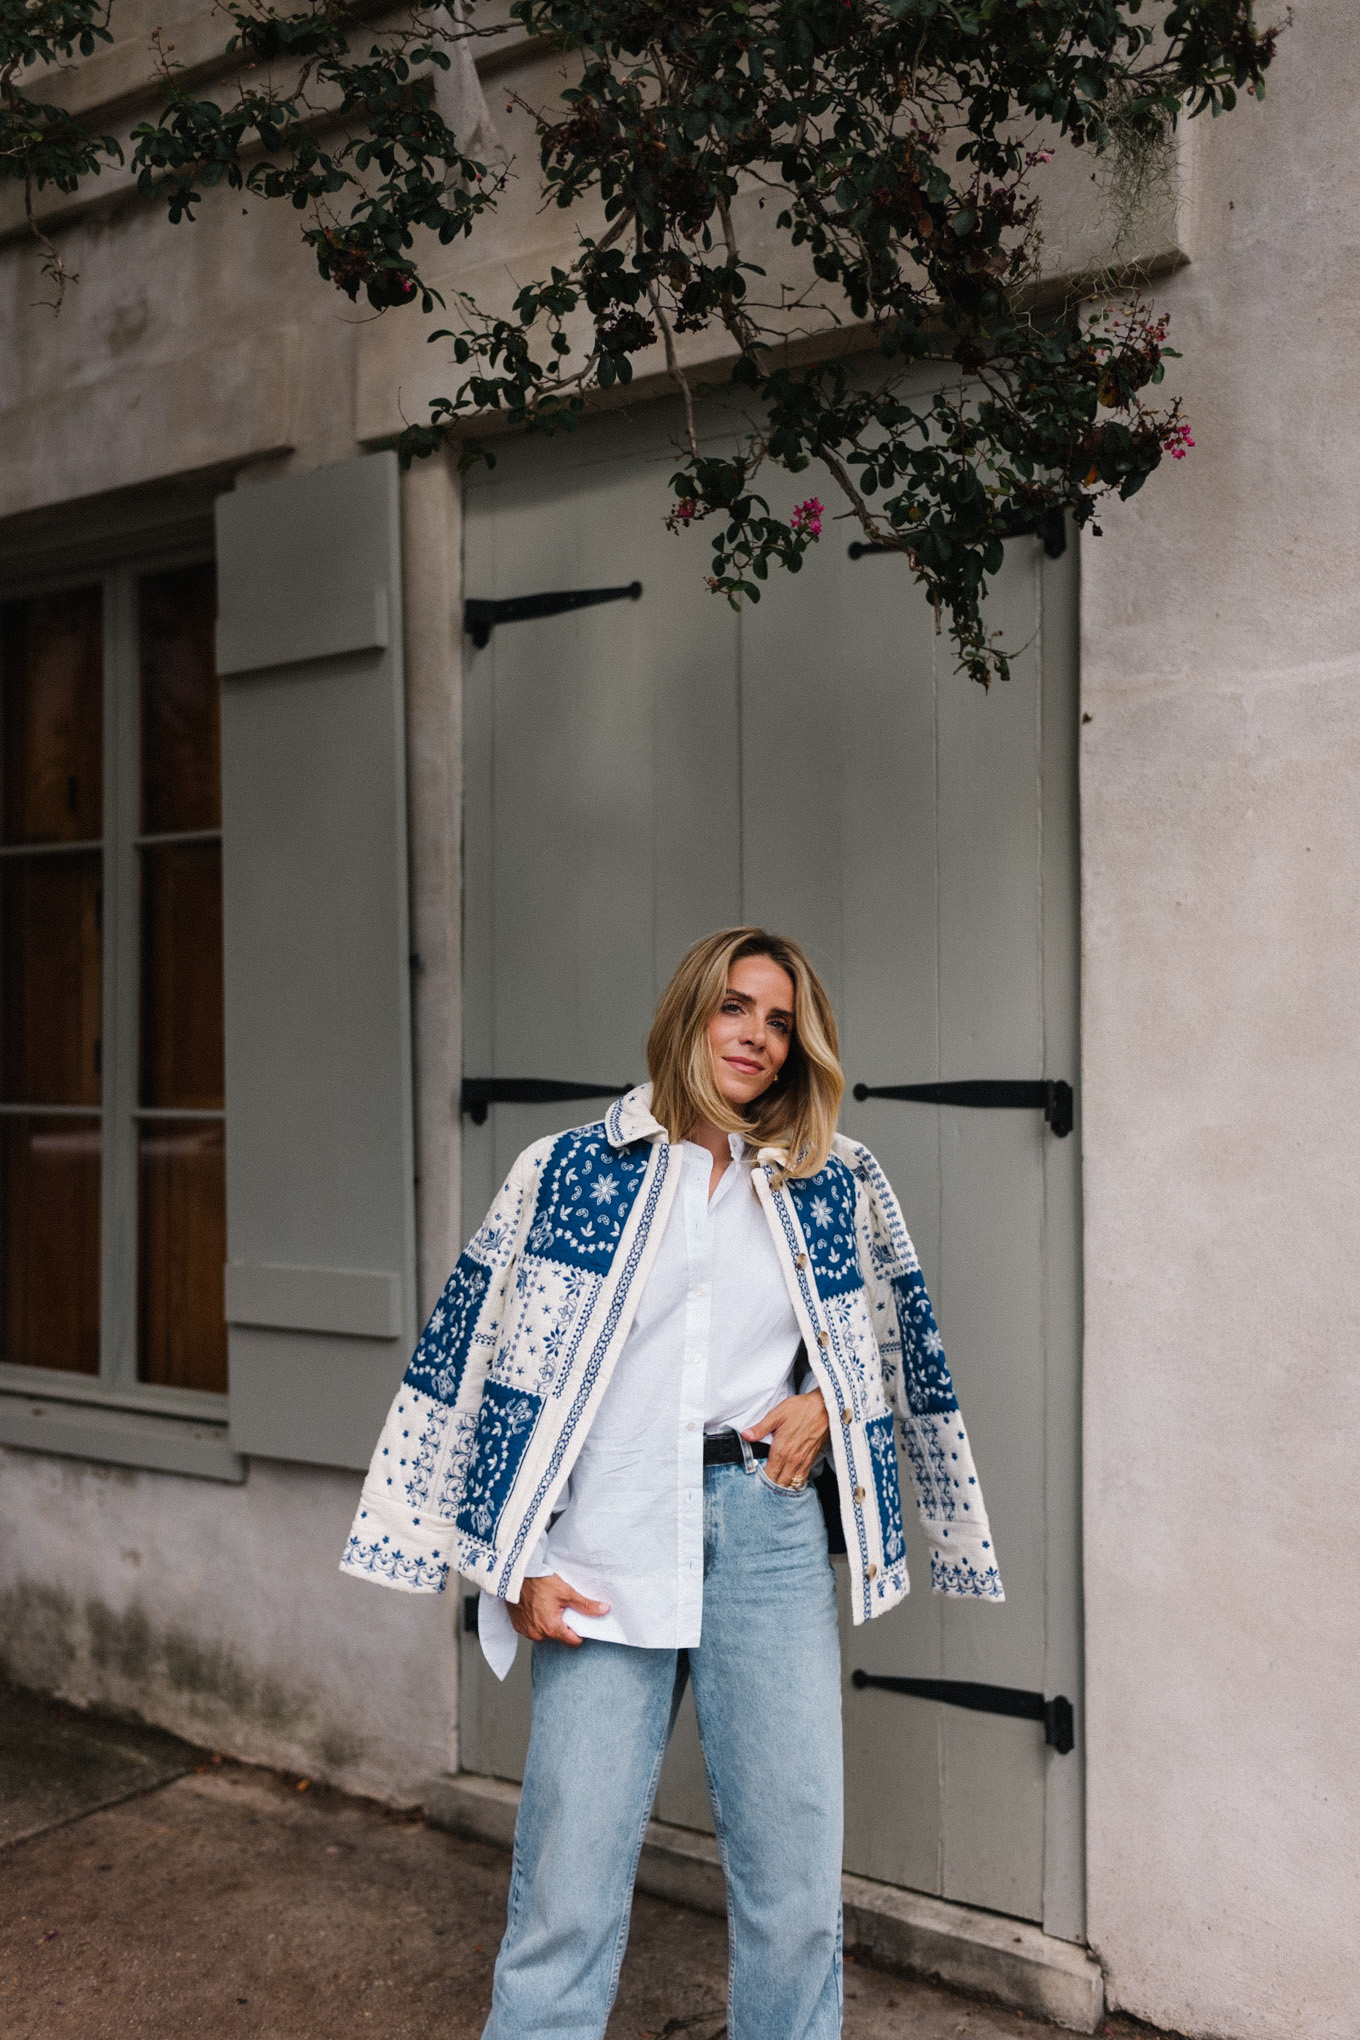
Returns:
[[[534,1724],[485,2040],[599,2040],[675,1714],[693,1683],[728,1879],[730,2040],[840,2032],[840,1652],[907,1591],[895,1422],[942,1593],[1001,1599],[893,1193],[836,1132],[836,1022],[801,949],[689,951],[650,1085],[516,1161],[377,1444],[345,1569],[481,1585]]]

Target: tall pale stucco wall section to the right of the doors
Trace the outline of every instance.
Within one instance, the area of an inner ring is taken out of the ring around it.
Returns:
[[[1354,2040],[1360,14],[1295,16],[1158,288],[1195,453],[1083,543],[1089,1926]]]

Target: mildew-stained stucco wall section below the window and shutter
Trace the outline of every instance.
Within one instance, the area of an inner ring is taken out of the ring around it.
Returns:
[[[455,1758],[457,1595],[341,1577],[353,1473],[245,1485],[0,1446],[0,1671],[410,1803]]]

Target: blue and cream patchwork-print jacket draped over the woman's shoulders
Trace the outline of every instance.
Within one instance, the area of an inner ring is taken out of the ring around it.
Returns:
[[[907,1591],[893,1432],[938,1593],[1003,1599],[983,1493],[922,1269],[869,1149],[752,1179],[832,1414],[854,1622]],[[518,1599],[599,1410],[671,1210],[679,1165],[650,1085],[526,1149],[416,1346],[341,1561],[410,1593],[461,1573]]]

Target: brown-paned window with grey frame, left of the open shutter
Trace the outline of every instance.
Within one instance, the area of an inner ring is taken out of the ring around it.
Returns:
[[[0,606],[6,1385],[226,1393],[214,620],[204,563]]]

